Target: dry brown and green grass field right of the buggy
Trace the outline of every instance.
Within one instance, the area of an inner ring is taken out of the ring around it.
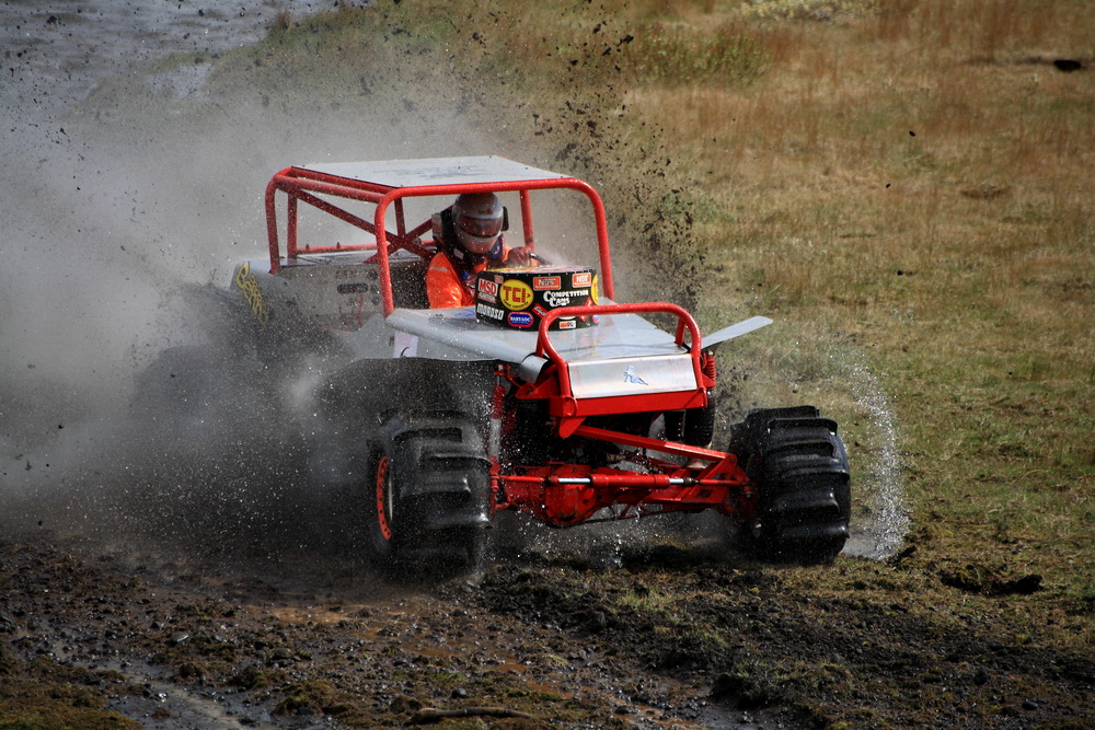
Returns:
[[[724,213],[695,231],[718,290],[793,323],[757,352],[808,372],[842,333],[880,368],[937,554],[992,553],[1006,525],[1068,575],[1095,536],[1095,5],[883,8],[761,24],[758,83],[629,108],[675,109],[670,146]],[[852,412],[831,375],[768,385]]]

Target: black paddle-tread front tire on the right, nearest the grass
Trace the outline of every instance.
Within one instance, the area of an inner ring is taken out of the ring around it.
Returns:
[[[738,545],[762,559],[832,560],[848,540],[852,502],[837,424],[812,406],[756,410],[735,427],[731,449],[759,493]]]

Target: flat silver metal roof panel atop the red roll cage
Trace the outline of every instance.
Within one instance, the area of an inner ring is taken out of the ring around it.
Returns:
[[[494,155],[382,160],[379,162],[320,162],[303,165],[303,167],[388,187],[517,183],[569,176]]]

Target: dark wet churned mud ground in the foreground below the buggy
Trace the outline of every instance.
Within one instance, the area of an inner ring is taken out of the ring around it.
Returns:
[[[1092,727],[1091,657],[1041,646],[1037,627],[1003,615],[934,612],[902,589],[901,559],[839,560],[829,570],[846,590],[819,594],[796,569],[713,543],[615,545],[496,556],[477,578],[395,587],[315,546],[123,559],[5,542],[0,719]]]

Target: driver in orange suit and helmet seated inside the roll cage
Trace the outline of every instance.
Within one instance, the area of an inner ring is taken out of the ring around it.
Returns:
[[[475,275],[502,266],[528,266],[532,252],[503,242],[505,211],[494,193],[465,193],[440,213],[437,254],[426,271],[430,309],[475,303]]]

